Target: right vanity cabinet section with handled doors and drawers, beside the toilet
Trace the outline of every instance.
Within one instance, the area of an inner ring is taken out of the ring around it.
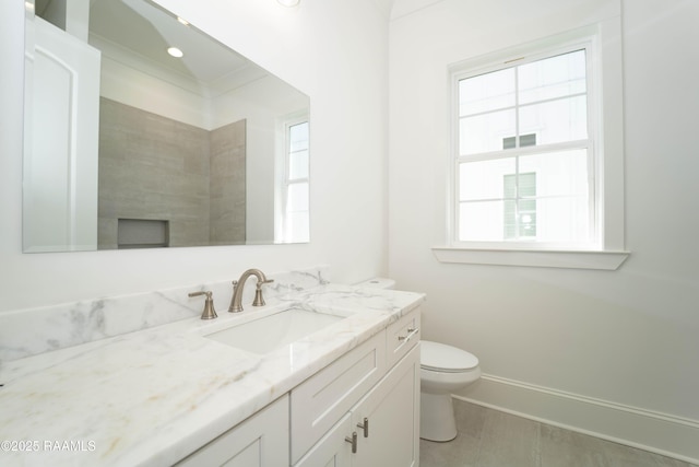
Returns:
[[[415,311],[292,390],[295,467],[417,466],[418,332]]]

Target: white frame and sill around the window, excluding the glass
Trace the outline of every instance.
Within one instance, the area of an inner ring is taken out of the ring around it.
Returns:
[[[584,45],[589,50],[588,118],[590,138],[595,147],[593,176],[595,242],[581,245],[545,245],[510,242],[458,241],[458,126],[452,127],[452,151],[449,155],[449,197],[446,246],[434,247],[442,262],[560,267],[582,269],[617,269],[628,257],[624,249],[624,139],[623,139],[623,74],[620,21],[608,20],[530,44],[512,47],[454,63],[450,67],[452,85],[450,121],[458,125],[458,79],[491,71],[496,63],[524,57],[528,61],[571,51]],[[519,63],[512,63],[519,65]],[[505,68],[505,67],[501,67]]]

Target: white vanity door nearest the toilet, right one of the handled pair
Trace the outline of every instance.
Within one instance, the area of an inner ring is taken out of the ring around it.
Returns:
[[[365,430],[359,425],[366,425]],[[411,467],[419,459],[419,345],[352,410],[354,466]]]

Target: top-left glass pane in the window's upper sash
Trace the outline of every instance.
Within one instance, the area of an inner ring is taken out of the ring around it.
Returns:
[[[459,81],[459,116],[473,115],[513,105],[513,68]]]

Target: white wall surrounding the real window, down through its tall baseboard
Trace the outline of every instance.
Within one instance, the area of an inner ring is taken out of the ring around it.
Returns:
[[[411,3],[390,32],[389,273],[427,293],[424,338],[481,359],[460,396],[699,458],[699,2]],[[630,258],[612,272],[438,262],[447,66],[618,14]]]

